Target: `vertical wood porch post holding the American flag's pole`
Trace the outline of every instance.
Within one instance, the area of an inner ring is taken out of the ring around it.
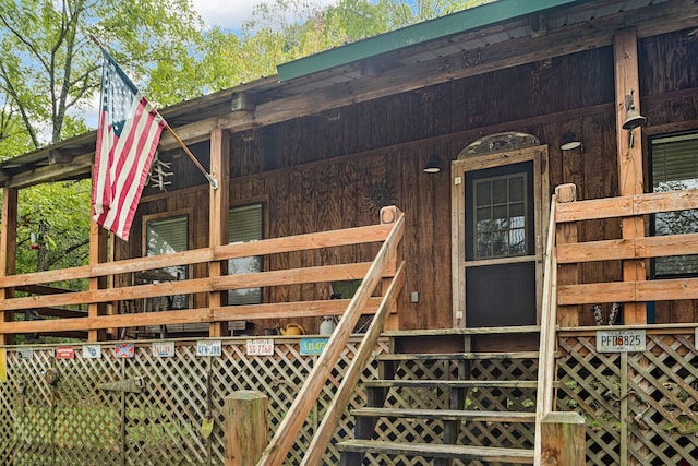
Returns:
[[[216,128],[210,132],[210,175],[218,180],[218,188],[210,188],[208,211],[208,247],[228,243],[228,208],[230,191],[228,180],[230,178],[230,140],[228,133]],[[217,277],[226,275],[228,262],[212,262],[208,264],[208,276]],[[208,294],[208,308],[217,308],[224,304],[225,291]],[[227,302],[226,302],[227,303]],[[228,322],[212,322],[208,324],[210,336],[226,336]]]

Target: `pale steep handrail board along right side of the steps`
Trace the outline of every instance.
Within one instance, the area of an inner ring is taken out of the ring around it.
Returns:
[[[534,463],[541,464],[542,442],[541,423],[545,415],[553,410],[553,382],[555,380],[555,327],[557,321],[557,262],[554,244],[556,236],[556,205],[557,196],[553,195],[550,203],[550,223],[547,228],[547,244],[545,247],[545,267],[543,272],[543,302],[541,310],[541,339],[538,361],[538,391],[535,394],[535,443]]]

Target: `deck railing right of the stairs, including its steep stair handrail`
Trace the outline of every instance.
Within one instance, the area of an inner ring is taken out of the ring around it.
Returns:
[[[545,444],[545,440],[541,440],[541,425],[543,419],[555,410],[554,358],[557,330],[565,325],[578,326],[579,312],[583,304],[629,303],[640,306],[639,309],[642,309],[641,307],[647,302],[698,299],[698,278],[649,280],[642,273],[636,275],[635,279],[627,279],[627,275],[626,279],[623,279],[622,268],[617,263],[616,280],[579,283],[582,278],[580,265],[586,263],[638,261],[637,270],[643,272],[646,271],[645,262],[654,258],[698,254],[698,225],[691,225],[697,232],[684,235],[646,237],[645,231],[637,231],[637,235],[625,238],[594,241],[579,241],[578,236],[578,225],[583,222],[645,217],[698,208],[698,190],[589,201],[576,201],[575,191],[574,186],[558,187],[551,203],[541,316],[534,464],[541,464],[542,456],[546,454],[550,446]],[[562,196],[567,199],[561,201],[558,199],[561,193],[565,193]],[[564,275],[564,283],[561,275]],[[604,274],[601,274],[600,278],[605,278]],[[564,315],[558,312],[558,308],[565,310]],[[693,318],[691,313],[690,319]],[[564,444],[552,446],[553,450],[567,449]]]

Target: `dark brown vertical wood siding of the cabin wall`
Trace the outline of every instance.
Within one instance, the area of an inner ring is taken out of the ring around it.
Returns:
[[[698,41],[689,31],[639,43],[642,113],[649,127],[696,128],[698,120]],[[387,187],[407,216],[404,254],[407,284],[400,302],[400,327],[452,326],[450,176],[448,160],[477,139],[521,131],[549,145],[550,184],[575,183],[580,199],[617,193],[617,156],[613,51],[611,47],[490,72],[406,92],[318,115],[231,134],[231,203],[265,199],[270,237],[369,225],[377,215],[368,203],[372,187]],[[406,70],[408,73],[409,70]],[[562,152],[562,135],[571,130],[580,151]],[[659,131],[658,130],[658,131]],[[645,130],[643,130],[645,131]],[[647,145],[647,144],[646,144]],[[195,152],[208,165],[206,143]],[[174,156],[177,155],[177,156]],[[422,167],[432,155],[442,172]],[[179,152],[163,154],[176,172],[169,194],[149,190],[140,215],[193,208],[193,247],[206,246],[207,191]],[[184,190],[178,193],[179,190]],[[151,201],[148,201],[148,199]],[[141,235],[135,225],[133,235]],[[581,240],[619,238],[618,222],[581,226]],[[140,242],[119,254],[139,255]],[[268,268],[310,263],[369,260],[376,248],[270,258]],[[205,273],[197,270],[197,273]],[[581,280],[617,280],[619,263],[586,264]],[[411,303],[410,292],[419,292]],[[270,290],[269,301],[326,297],[327,285]],[[690,308],[691,312],[685,311]],[[693,320],[695,306],[661,313],[661,321]],[[690,314],[690,315],[688,315]],[[660,312],[658,312],[660,315]],[[582,324],[593,315],[582,310]],[[268,323],[263,323],[266,325]],[[302,321],[310,331],[318,322]]]

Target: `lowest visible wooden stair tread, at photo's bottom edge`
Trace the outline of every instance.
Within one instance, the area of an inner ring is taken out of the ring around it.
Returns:
[[[429,458],[457,458],[514,464],[533,464],[533,451],[492,446],[447,445],[434,443],[400,443],[380,440],[348,440],[337,443],[340,452],[387,455],[422,456]]]

